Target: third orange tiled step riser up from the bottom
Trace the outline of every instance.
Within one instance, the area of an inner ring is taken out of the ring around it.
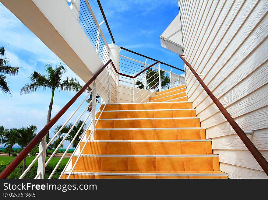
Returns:
[[[81,142],[82,150],[85,142]],[[87,142],[83,154],[210,154],[211,141],[202,142]]]

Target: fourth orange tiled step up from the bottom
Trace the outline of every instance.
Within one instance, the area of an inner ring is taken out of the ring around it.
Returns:
[[[87,132],[87,136],[89,132]],[[204,128],[96,129],[95,140],[196,140],[206,139]]]

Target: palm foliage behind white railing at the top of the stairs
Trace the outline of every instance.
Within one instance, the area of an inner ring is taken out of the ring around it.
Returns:
[[[146,89],[156,89],[159,91],[159,75],[158,69],[149,68],[146,70]],[[164,71],[160,70],[161,89],[168,89],[170,85],[170,79],[165,75]],[[135,83],[140,89],[144,89],[144,84],[140,80]]]

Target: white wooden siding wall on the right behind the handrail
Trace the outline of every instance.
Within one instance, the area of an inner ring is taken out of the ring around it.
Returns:
[[[268,160],[268,0],[179,0],[185,59]],[[229,178],[267,178],[186,66],[196,107]]]

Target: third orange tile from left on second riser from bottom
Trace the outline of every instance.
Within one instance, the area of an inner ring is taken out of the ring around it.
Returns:
[[[155,171],[156,162],[152,157],[130,157],[129,158],[129,171]]]

